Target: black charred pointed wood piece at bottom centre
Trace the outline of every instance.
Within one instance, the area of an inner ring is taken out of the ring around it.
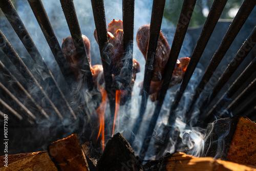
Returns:
[[[117,133],[106,143],[97,167],[101,171],[140,170],[141,164],[136,159],[129,142],[120,133]]]

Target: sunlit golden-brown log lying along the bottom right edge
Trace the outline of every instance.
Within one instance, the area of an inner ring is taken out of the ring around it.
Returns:
[[[159,171],[170,170],[215,170],[215,171],[256,171],[256,168],[229,161],[217,160],[212,157],[193,157],[185,153],[166,154],[160,159]]]

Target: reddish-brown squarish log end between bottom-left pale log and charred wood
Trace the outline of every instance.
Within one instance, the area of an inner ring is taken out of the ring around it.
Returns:
[[[58,170],[90,170],[76,134],[51,143],[48,153]]]

